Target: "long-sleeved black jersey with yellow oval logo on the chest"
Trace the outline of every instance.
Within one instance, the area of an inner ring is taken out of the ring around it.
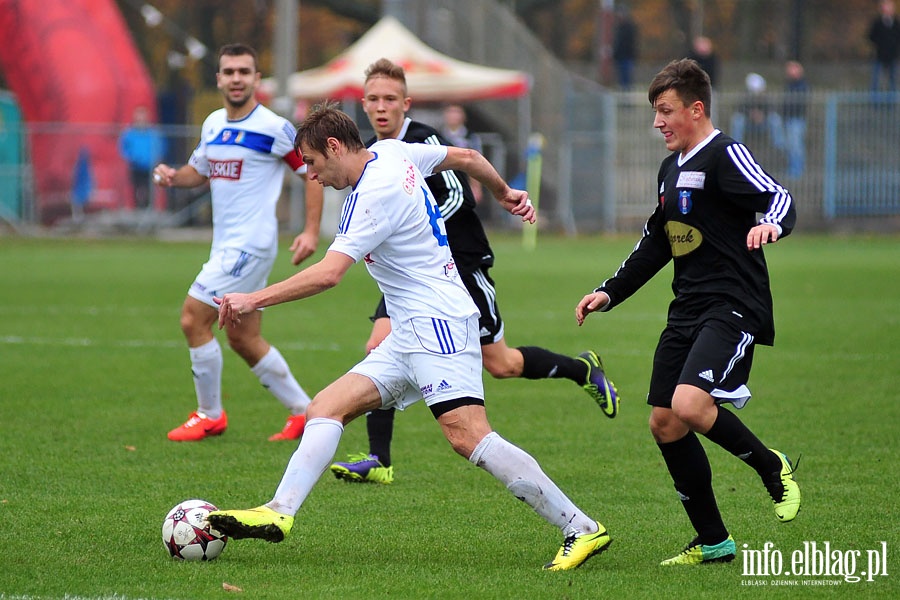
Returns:
[[[658,175],[659,200],[644,234],[616,274],[597,288],[621,303],[671,259],[669,323],[689,325],[736,313],[756,342],[775,341],[772,293],[762,249],[747,249],[759,223],[788,235],[796,222],[790,193],[766,173],[750,151],[716,131],[685,159],[674,153]]]

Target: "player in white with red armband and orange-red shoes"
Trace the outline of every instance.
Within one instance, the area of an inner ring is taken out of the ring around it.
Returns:
[[[203,122],[200,143],[179,169],[160,164],[153,179],[163,187],[195,187],[209,181],[213,241],[209,260],[188,290],[181,309],[197,394],[197,410],[169,432],[173,441],[199,441],[228,426],[222,407],[222,350],[213,335],[218,306],[214,296],[252,292],[266,286],[278,252],[275,205],[284,166],[298,175],[306,165],[294,151],[296,130],[256,99],[260,73],[256,51],[230,44],[219,51],[216,82],[225,106]],[[293,244],[293,263],[316,249],[322,216],[322,188],[308,181],[306,227]],[[247,315],[226,328],[229,346],[250,366],[260,383],[288,409],[282,430],[269,439],[297,439],[303,433],[309,396],[290,368],[261,334],[262,313]]]

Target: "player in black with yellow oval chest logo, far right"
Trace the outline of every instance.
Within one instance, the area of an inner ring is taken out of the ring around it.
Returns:
[[[697,537],[662,564],[734,559],[697,433],[756,470],[782,522],[800,509],[787,457],[767,448],[722,404],[741,408],[755,344],[772,345],[775,326],[763,246],[788,235],[793,199],[750,151],[710,120],[708,75],[693,60],[669,63],[649,98],[672,154],[659,169],[656,210],[621,267],[575,307],[578,324],[635,293],[674,262],[668,322],[656,347],[647,402],[650,431]],[[757,214],[762,218],[757,220]]]

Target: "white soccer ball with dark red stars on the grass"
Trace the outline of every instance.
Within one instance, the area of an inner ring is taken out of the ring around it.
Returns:
[[[205,500],[185,500],[163,521],[163,544],[179,560],[212,560],[222,553],[228,538],[209,526],[206,515],[218,510]]]

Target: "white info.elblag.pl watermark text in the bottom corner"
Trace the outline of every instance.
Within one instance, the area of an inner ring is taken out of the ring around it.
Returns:
[[[888,576],[887,542],[865,550],[843,550],[831,542],[803,542],[792,551],[782,551],[773,542],[760,549],[744,544],[741,559],[741,575],[752,578],[741,585],[841,585]]]

